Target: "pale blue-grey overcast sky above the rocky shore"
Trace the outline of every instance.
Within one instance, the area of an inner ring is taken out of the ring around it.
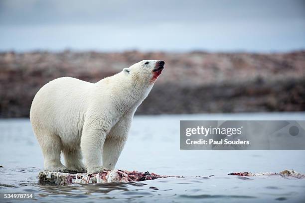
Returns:
[[[305,0],[0,0],[0,51],[305,49]]]

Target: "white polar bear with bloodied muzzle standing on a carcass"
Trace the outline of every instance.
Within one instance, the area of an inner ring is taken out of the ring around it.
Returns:
[[[44,85],[30,109],[44,169],[88,173],[114,169],[134,113],[163,68],[164,61],[143,60],[97,83],[63,77]]]

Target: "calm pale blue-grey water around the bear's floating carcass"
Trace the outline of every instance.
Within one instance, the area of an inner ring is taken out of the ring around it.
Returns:
[[[235,203],[305,200],[305,179],[227,176],[239,171],[279,172],[284,169],[305,173],[305,151],[180,151],[180,119],[305,120],[305,113],[135,116],[130,137],[116,168],[183,175],[185,178],[69,186],[39,184],[37,175],[43,170],[43,159],[29,120],[2,119],[0,193],[34,193],[35,200],[39,202]],[[3,201],[0,199],[0,202]]]

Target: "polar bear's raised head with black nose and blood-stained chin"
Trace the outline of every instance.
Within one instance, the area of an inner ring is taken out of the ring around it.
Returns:
[[[164,64],[164,61],[159,60],[143,60],[129,68],[124,68],[123,72],[137,82],[153,84],[161,74]]]

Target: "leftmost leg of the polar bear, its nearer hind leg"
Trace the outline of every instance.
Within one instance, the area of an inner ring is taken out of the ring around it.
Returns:
[[[67,168],[60,162],[61,139],[54,134],[37,136],[44,157],[44,170],[53,172],[67,172]]]

